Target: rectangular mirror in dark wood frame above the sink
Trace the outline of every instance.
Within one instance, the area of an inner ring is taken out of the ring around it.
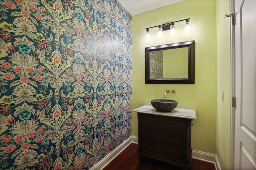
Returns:
[[[194,84],[195,41],[145,48],[146,84]]]

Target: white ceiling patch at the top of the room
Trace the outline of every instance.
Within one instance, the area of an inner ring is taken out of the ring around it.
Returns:
[[[132,16],[180,1],[183,0],[118,0]]]

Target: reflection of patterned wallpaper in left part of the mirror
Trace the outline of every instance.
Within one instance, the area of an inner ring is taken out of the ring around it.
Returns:
[[[150,51],[150,78],[163,78],[163,51]]]

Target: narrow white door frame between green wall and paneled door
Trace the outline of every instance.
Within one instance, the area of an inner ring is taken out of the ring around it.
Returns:
[[[233,14],[235,20],[234,13],[234,0],[229,0],[230,3],[230,14]],[[232,106],[233,97],[236,96],[235,90],[235,25],[232,25],[232,18],[230,18],[230,156],[229,156],[229,169],[234,169],[234,153],[235,153],[235,107]]]

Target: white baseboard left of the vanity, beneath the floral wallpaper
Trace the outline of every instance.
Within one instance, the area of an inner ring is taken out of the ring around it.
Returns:
[[[101,170],[105,166],[109,164],[118,154],[120,154],[130,143],[138,143],[138,138],[134,136],[130,136],[128,139],[126,139],[121,145],[116,147],[116,149],[112,150],[107,156],[105,156],[102,160],[100,160],[97,164],[92,166],[90,170]]]

